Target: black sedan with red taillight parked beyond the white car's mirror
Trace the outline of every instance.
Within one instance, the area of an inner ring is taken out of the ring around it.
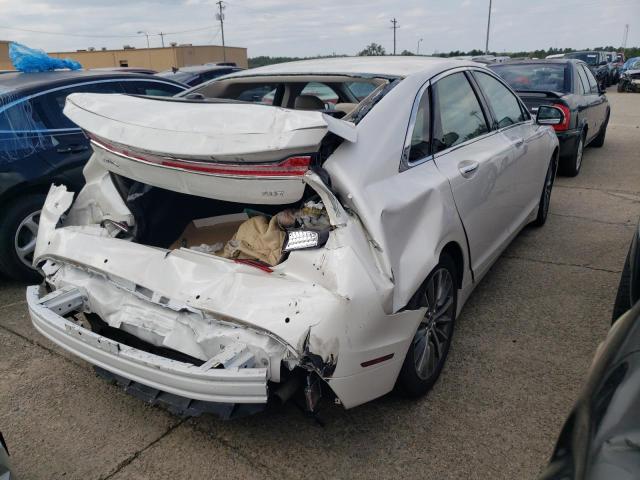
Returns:
[[[565,119],[554,125],[560,141],[559,171],[575,177],[587,145],[601,147],[611,109],[605,92],[586,63],[572,59],[522,60],[491,65],[520,95],[532,114],[540,105],[553,105]]]

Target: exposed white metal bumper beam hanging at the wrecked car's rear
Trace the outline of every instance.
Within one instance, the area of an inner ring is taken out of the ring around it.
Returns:
[[[35,328],[80,358],[133,382],[189,399],[219,403],[266,403],[266,368],[203,369],[115,342],[66,320],[27,288]]]

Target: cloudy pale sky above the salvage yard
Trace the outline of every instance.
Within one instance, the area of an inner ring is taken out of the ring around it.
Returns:
[[[249,57],[484,49],[489,0],[227,0],[225,40]],[[45,51],[220,44],[214,0],[0,0],[0,39]],[[640,46],[640,0],[493,0],[489,49]],[[32,30],[31,32],[25,30]],[[46,33],[45,33],[46,32]],[[176,33],[180,32],[180,33]],[[422,41],[420,41],[422,39]]]

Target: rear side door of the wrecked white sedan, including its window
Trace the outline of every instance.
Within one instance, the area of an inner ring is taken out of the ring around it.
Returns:
[[[432,89],[434,161],[449,179],[469,241],[471,268],[481,276],[511,233],[513,146],[492,131],[465,72],[436,79]]]

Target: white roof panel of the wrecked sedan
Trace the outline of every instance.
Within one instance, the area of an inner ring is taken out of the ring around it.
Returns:
[[[441,57],[376,56],[331,57],[295,62],[277,63],[226,75],[224,78],[251,77],[257,75],[366,75],[381,77],[406,77],[425,70],[445,70],[460,66],[483,66],[480,63]]]

